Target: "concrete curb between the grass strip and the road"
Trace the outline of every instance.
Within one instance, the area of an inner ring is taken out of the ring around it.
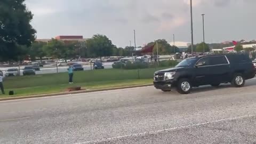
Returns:
[[[135,88],[135,87],[145,87],[145,86],[152,86],[152,85],[153,84],[141,84],[141,85],[109,87],[109,88],[94,89],[94,90],[81,90],[81,91],[73,91],[73,92],[59,92],[59,93],[48,93],[48,94],[36,94],[36,95],[27,95],[27,96],[20,96],[20,97],[0,98],[0,101],[29,99],[29,98],[41,98],[41,97],[53,97],[53,96],[58,96],[58,95],[68,95],[68,94],[78,94],[78,93],[90,93],[90,92],[121,90],[121,89],[130,89],[130,88]]]

